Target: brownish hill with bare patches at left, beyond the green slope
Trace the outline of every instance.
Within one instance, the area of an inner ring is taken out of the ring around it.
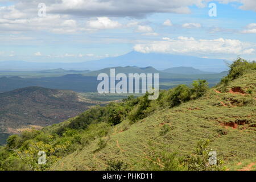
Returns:
[[[0,93],[0,132],[19,133],[59,123],[94,105],[69,90],[31,86]]]

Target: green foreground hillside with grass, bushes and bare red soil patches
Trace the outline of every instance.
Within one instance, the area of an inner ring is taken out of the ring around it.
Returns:
[[[255,170],[255,106],[256,63],[238,59],[215,88],[198,80],[162,90],[158,100],[129,97],[12,136],[0,148],[0,169]],[[217,166],[205,162],[210,150]],[[46,165],[37,164],[39,151]]]

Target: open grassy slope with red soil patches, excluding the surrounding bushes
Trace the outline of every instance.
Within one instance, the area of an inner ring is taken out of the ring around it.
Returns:
[[[53,164],[53,170],[104,170],[106,160],[121,159],[129,169],[141,169],[139,162],[147,159],[152,150],[175,151],[188,154],[201,138],[210,139],[210,147],[222,155],[231,169],[256,169],[256,71],[230,82],[226,91],[240,86],[250,88],[253,95],[210,89],[204,97],[172,109],[158,110],[133,125],[125,120],[110,128],[106,146],[97,149],[98,140],[80,151]],[[245,122],[244,125],[241,125]],[[229,124],[228,124],[229,123]],[[233,125],[230,123],[238,123]],[[160,135],[163,125],[171,130]],[[226,125],[226,126],[225,126]],[[234,127],[233,127],[234,126]]]

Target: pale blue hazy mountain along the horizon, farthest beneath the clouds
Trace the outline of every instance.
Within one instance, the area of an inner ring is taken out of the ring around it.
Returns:
[[[227,69],[224,60],[205,59],[195,56],[170,55],[163,53],[129,52],[122,56],[82,63],[31,63],[26,61],[1,61],[0,71],[42,71],[46,69],[98,70],[109,67],[154,67],[159,70],[172,67],[193,67],[206,72],[221,72]]]

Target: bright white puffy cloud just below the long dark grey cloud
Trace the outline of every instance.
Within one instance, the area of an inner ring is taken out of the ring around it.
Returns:
[[[95,29],[112,29],[121,27],[122,24],[110,20],[108,17],[98,17],[97,20],[89,20],[88,27]]]

